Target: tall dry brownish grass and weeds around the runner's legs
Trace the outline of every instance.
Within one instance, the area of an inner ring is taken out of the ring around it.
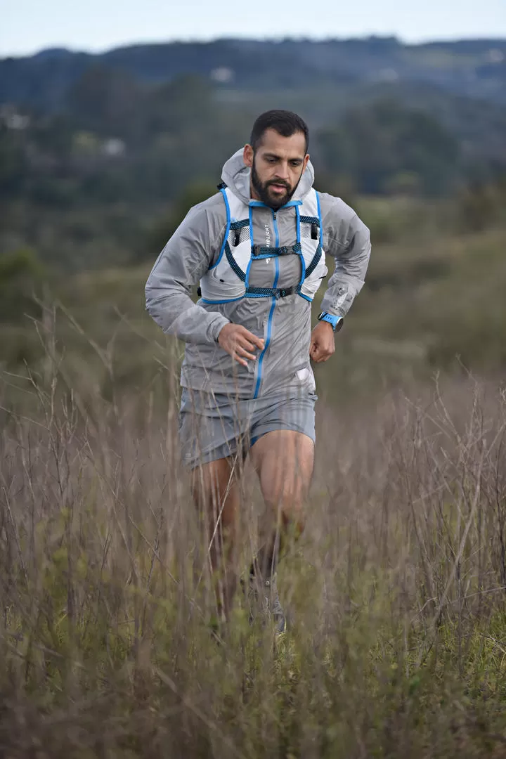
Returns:
[[[501,392],[320,406],[291,631],[238,597],[218,645],[174,396],[85,403],[46,351],[2,430],[2,756],[506,756]],[[247,473],[244,565],[258,511]]]

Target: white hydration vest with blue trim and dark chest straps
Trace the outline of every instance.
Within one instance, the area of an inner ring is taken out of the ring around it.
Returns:
[[[228,187],[221,187],[220,191],[227,209],[227,228],[218,260],[200,280],[203,302],[216,304],[239,301],[241,298],[285,298],[291,294],[298,294],[306,301],[313,301],[328,271],[322,247],[322,217],[316,190],[311,188],[304,200],[291,200],[281,206],[294,206],[295,209],[297,241],[291,247],[255,245],[253,209],[269,206],[259,200],[250,200],[247,205]],[[253,261],[289,253],[297,254],[300,258],[301,276],[297,285],[277,288],[275,279],[272,288],[250,287],[250,266]]]

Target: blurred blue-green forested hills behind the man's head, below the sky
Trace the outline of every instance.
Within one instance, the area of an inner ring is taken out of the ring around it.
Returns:
[[[55,269],[151,260],[271,108],[306,119],[320,190],[438,198],[481,230],[504,206],[505,61],[506,40],[379,38],[5,58],[0,263],[14,251],[24,266],[27,250]],[[376,240],[389,224],[372,222]]]

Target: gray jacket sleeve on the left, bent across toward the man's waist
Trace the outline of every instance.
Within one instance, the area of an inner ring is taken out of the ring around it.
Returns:
[[[222,313],[209,312],[190,298],[221,247],[225,224],[213,216],[205,203],[190,209],[146,282],[146,309],[156,323],[166,334],[200,345],[215,345],[228,324]]]

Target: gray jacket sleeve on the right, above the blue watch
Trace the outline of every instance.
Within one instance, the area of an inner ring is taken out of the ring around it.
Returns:
[[[335,270],[328,280],[322,310],[344,317],[363,288],[371,254],[369,229],[339,198],[323,196],[324,205],[327,206],[327,213],[322,214],[325,253],[334,258]]]

